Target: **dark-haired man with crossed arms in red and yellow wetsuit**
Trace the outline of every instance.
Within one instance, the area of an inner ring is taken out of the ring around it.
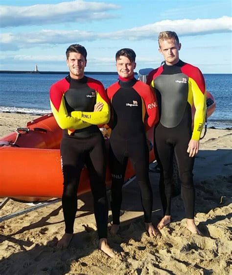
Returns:
[[[106,148],[97,127],[109,122],[110,108],[102,83],[84,75],[86,49],[79,44],[71,45],[66,56],[70,74],[50,88],[51,110],[64,130],[60,150],[64,176],[62,206],[65,234],[57,247],[68,247],[72,239],[79,179],[86,165],[93,193],[99,248],[114,257],[107,242]]]

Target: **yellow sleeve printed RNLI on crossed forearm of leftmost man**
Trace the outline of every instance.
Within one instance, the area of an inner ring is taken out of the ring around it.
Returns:
[[[104,92],[104,95],[105,95],[104,88],[103,88],[103,91],[101,92]],[[94,125],[108,123],[110,120],[110,106],[107,100],[104,100],[103,96],[101,96],[101,92],[97,91],[97,95],[96,95],[96,102],[103,103],[103,108],[101,111],[93,111],[93,112],[72,111],[71,116]],[[106,95],[104,96],[104,98],[106,99]]]

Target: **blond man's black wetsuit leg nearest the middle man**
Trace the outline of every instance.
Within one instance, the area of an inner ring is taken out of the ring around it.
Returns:
[[[161,168],[160,195],[163,215],[171,215],[172,174],[173,174],[173,144],[170,129],[159,124],[154,133],[154,152]]]

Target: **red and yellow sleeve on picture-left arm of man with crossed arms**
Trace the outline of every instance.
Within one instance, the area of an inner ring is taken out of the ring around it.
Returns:
[[[72,117],[65,106],[64,93],[57,85],[50,88],[50,105],[57,124],[61,129],[83,129],[91,124]]]

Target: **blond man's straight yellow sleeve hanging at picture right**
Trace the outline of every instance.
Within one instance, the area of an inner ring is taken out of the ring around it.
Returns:
[[[197,73],[194,78],[189,78],[188,85],[189,89],[192,91],[193,103],[196,109],[192,139],[199,140],[206,117],[207,96],[205,80],[199,69],[197,69]]]

